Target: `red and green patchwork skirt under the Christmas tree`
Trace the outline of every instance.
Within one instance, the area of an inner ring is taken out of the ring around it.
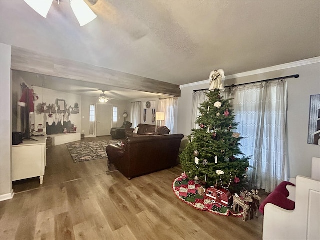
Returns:
[[[233,212],[231,208],[212,203],[211,199],[198,194],[199,183],[188,177],[178,176],[172,184],[173,191],[177,198],[200,211],[209,211],[223,216],[242,217],[243,212]]]

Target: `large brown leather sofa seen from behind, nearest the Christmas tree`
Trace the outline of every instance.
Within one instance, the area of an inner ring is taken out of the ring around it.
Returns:
[[[128,137],[123,147],[108,145],[106,153],[128,179],[178,164],[177,157],[183,134]]]

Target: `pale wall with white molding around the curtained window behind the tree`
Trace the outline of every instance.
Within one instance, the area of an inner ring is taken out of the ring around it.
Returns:
[[[227,69],[224,69],[227,70]],[[307,144],[310,95],[320,94],[320,58],[283,64],[226,77],[224,85],[240,84],[299,74],[288,81],[287,137],[289,177],[311,175],[311,158],[320,157],[320,146]],[[242,76],[241,76],[242,75]],[[244,76],[247,75],[247,76]],[[191,133],[192,93],[209,87],[209,80],[181,86],[178,100],[178,132]]]

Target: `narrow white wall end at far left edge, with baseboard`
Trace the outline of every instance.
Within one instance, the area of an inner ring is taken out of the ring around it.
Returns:
[[[11,181],[11,46],[0,43],[0,200],[13,197]]]

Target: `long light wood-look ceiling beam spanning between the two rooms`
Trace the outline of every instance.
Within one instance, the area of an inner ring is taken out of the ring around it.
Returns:
[[[11,69],[137,91],[181,96],[179,85],[12,46]]]

